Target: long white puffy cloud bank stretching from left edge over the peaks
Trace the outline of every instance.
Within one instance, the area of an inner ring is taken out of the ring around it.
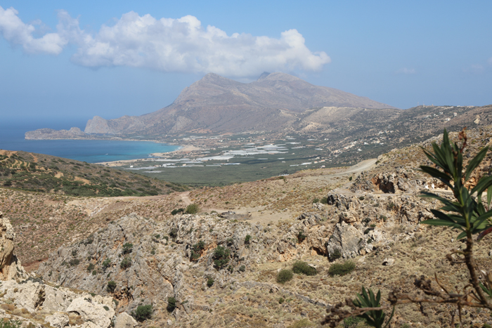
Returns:
[[[330,57],[312,52],[296,29],[280,38],[231,35],[200,20],[156,19],[133,11],[122,15],[115,25],[103,25],[97,33],[79,28],[79,21],[65,11],[58,13],[57,32],[34,38],[33,25],[18,18],[13,8],[0,7],[0,33],[27,53],[58,54],[67,44],[77,47],[72,61],[86,67],[145,67],[164,72],[214,72],[245,77],[276,70],[321,70]]]

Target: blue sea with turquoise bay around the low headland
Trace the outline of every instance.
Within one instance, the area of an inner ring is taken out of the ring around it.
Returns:
[[[23,150],[81,162],[98,163],[152,157],[154,152],[172,152],[176,145],[151,141],[120,140],[25,140],[24,133],[36,129],[65,129],[72,126],[84,131],[84,120],[7,119],[0,120],[0,149]]]

